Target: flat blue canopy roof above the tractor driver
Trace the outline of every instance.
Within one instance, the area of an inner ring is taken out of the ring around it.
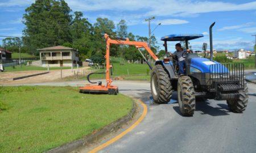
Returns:
[[[203,34],[174,34],[174,35],[167,35],[163,36],[161,40],[163,41],[186,41],[186,40],[193,40],[203,37]]]

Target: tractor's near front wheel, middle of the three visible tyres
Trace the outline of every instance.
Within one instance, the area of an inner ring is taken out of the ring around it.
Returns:
[[[196,109],[196,98],[193,83],[189,76],[181,76],[177,82],[177,96],[180,112],[184,116],[193,116]]]

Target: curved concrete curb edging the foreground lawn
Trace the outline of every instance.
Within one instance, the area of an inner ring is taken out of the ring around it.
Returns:
[[[105,135],[108,135],[112,131],[115,131],[119,129],[123,124],[126,124],[130,120],[132,120],[135,111],[138,107],[138,104],[135,103],[135,100],[133,100],[133,108],[131,111],[124,117],[119,118],[117,121],[113,122],[112,124],[109,124],[102,128],[101,130],[97,131],[96,133],[92,133],[89,135],[86,135],[85,138],[79,139],[77,141],[69,142],[65,145],[53,148],[52,150],[46,151],[48,153],[64,153],[64,152],[71,152],[73,150],[76,150],[77,148],[80,148],[85,145],[89,145],[89,143],[97,141],[100,138],[103,138]]]

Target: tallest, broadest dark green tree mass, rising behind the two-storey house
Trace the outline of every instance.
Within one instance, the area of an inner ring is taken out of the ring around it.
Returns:
[[[23,40],[32,54],[37,54],[38,48],[72,42],[71,9],[64,0],[38,0],[25,11]]]

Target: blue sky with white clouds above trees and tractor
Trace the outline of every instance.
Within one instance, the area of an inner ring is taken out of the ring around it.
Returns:
[[[24,24],[22,16],[25,9],[34,1],[0,0],[0,35],[22,36]],[[209,26],[213,22],[214,49],[253,50],[256,34],[256,1],[220,0],[66,0],[72,11],[82,11],[84,18],[95,23],[98,17],[108,18],[117,24],[125,19],[128,32],[148,36],[145,19],[155,16],[151,21],[152,35],[163,49],[162,36],[170,34],[204,34],[192,40],[193,50],[201,50],[203,42],[209,46]],[[159,23],[158,27],[156,27]],[[156,27],[156,28],[155,28]],[[0,37],[0,44],[2,44]],[[175,42],[168,42],[169,50],[174,50]]]

